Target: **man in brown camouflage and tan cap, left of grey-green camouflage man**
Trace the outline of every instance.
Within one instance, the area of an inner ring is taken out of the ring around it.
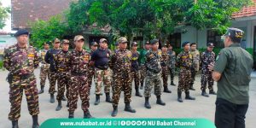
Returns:
[[[131,102],[131,51],[127,48],[127,39],[119,38],[119,49],[113,52],[109,66],[113,69],[113,112],[111,116],[118,113],[120,93],[125,93],[125,111],[136,113],[130,106]]]

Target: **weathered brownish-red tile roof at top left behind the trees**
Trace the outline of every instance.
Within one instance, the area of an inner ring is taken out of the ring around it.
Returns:
[[[68,9],[72,0],[12,0],[12,29],[29,28],[28,22],[49,20]]]

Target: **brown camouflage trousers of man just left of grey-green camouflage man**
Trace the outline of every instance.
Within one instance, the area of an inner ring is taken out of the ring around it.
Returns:
[[[124,90],[125,103],[131,102],[131,73],[113,73],[113,106],[118,106],[121,91]]]

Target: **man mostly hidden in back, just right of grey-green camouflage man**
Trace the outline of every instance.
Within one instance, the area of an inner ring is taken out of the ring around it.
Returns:
[[[176,84],[173,83],[173,79],[175,75],[176,54],[172,50],[172,44],[169,44],[167,54],[169,55],[168,68],[171,76],[171,85],[175,86]]]

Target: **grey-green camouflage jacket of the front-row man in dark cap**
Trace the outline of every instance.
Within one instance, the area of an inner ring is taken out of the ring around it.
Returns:
[[[146,67],[150,73],[160,73],[162,67],[160,65],[162,58],[162,52],[160,49],[154,52],[152,49],[146,54]]]

